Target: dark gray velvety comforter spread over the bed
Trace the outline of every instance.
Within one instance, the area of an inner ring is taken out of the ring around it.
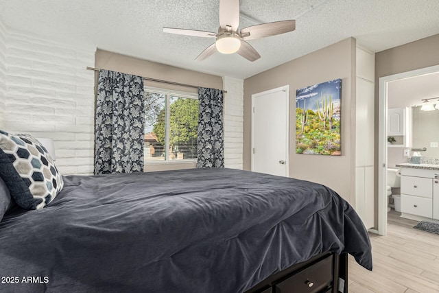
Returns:
[[[234,169],[66,176],[47,207],[0,223],[0,292],[243,292],[327,251],[372,268],[357,213],[316,183]]]

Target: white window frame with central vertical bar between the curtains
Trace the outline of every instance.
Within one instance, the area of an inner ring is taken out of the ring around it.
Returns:
[[[197,93],[189,93],[185,91],[175,91],[171,89],[162,89],[154,86],[143,86],[143,90],[145,93],[156,93],[156,94],[162,94],[165,95],[165,160],[163,161],[146,161],[145,158],[143,158],[143,162],[145,162],[145,165],[169,165],[169,164],[193,164],[197,162],[197,159],[182,159],[182,160],[169,160],[169,134],[170,134],[170,103],[169,103],[169,96],[172,97],[184,97],[189,99],[198,99]],[[145,95],[146,99],[146,95]]]

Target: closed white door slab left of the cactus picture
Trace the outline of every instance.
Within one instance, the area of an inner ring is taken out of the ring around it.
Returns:
[[[252,95],[252,171],[288,176],[289,86]]]

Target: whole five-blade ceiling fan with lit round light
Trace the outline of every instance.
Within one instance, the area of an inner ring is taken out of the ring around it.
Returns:
[[[204,60],[215,51],[223,54],[237,52],[247,60],[254,61],[261,55],[246,40],[265,38],[292,32],[296,29],[296,21],[276,21],[274,23],[262,23],[238,30],[239,25],[239,0],[219,0],[219,29],[218,33],[204,32],[200,30],[185,30],[172,27],[163,27],[163,32],[171,34],[183,34],[186,36],[201,36],[204,38],[216,38],[215,43],[204,49],[195,60]]]

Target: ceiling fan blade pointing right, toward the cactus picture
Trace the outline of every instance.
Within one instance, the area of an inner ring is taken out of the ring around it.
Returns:
[[[266,36],[276,36],[276,34],[285,34],[296,30],[296,21],[276,21],[274,23],[262,23],[261,25],[252,25],[241,30],[243,40],[254,40],[265,38]]]

